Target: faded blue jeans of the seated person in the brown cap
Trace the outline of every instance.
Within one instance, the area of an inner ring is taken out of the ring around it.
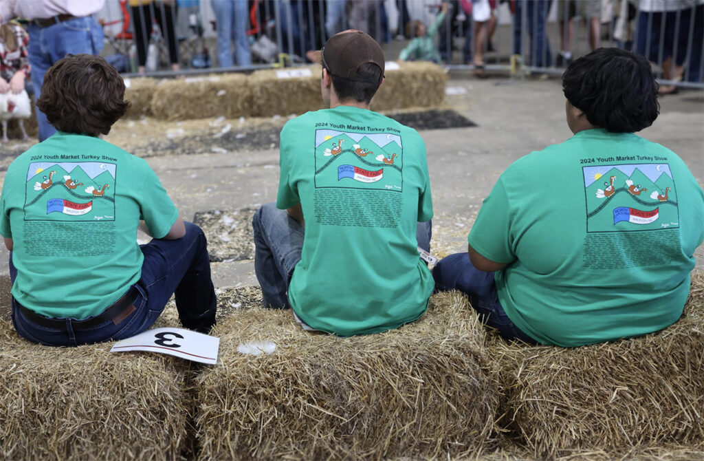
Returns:
[[[286,210],[277,209],[273,203],[257,210],[252,220],[254,229],[254,271],[262,288],[265,307],[288,309],[289,282],[301,261],[303,227],[291,218]],[[418,223],[418,246],[430,251],[432,224]],[[330,257],[335,257],[331,254]]]

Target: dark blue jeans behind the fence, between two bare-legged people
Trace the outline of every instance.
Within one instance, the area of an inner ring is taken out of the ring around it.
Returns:
[[[528,35],[530,35],[530,65],[534,67],[550,67],[553,65],[553,55],[550,52],[550,42],[545,30],[545,21],[550,11],[552,0],[517,0],[516,13],[513,15],[513,52],[523,54],[522,22],[523,6],[526,7]]]

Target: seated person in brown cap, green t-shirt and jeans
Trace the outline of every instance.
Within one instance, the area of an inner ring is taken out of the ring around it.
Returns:
[[[303,328],[378,333],[418,319],[434,282],[432,199],[420,135],[370,110],[384,82],[372,37],[347,30],[320,50],[330,109],[281,132],[279,191],[253,219],[255,270],[266,307]]]

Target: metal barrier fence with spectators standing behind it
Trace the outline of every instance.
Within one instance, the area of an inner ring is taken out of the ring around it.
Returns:
[[[562,73],[591,49],[621,47],[653,62],[663,92],[704,88],[704,0],[108,0],[99,16],[126,73],[295,66],[354,28],[387,59],[479,76]]]

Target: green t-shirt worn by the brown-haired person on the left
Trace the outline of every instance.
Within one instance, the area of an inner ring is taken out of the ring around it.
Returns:
[[[97,137],[58,132],[5,176],[0,234],[13,239],[12,294],[50,317],[99,314],[142,273],[139,220],[161,238],[177,217],[146,161]]]

